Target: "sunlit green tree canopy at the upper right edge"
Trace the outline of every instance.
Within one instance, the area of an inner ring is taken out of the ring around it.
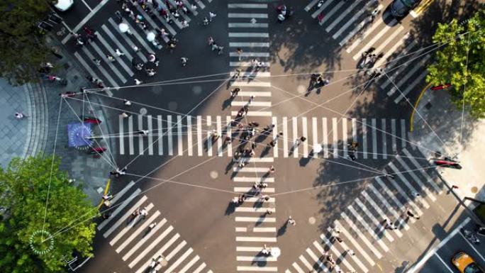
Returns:
[[[428,67],[427,82],[452,84],[455,104],[463,99],[472,116],[485,116],[485,12],[481,10],[459,23],[440,23],[433,43],[445,43],[437,52],[436,62]]]

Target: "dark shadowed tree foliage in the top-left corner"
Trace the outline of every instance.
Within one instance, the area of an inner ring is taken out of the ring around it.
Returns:
[[[36,70],[48,55],[36,23],[48,13],[45,0],[0,1],[0,77],[12,84],[38,79]]]

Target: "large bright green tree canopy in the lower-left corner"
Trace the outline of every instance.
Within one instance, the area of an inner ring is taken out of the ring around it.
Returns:
[[[63,257],[70,260],[73,250],[91,255],[95,223],[74,220],[96,216],[96,209],[59,164],[38,156],[0,168],[0,206],[8,208],[0,221],[1,272],[63,272]],[[45,230],[52,236],[41,233],[46,209]]]

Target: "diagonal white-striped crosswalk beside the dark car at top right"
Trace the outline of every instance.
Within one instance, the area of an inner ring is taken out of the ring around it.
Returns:
[[[434,48],[424,48],[410,37],[410,33],[385,11],[384,4],[371,1],[326,0],[317,8],[318,0],[309,1],[305,11],[317,18],[323,13],[320,26],[339,41],[340,46],[359,61],[362,53],[375,48],[374,53],[384,53],[374,67],[382,67],[387,72],[379,79],[379,87],[396,104],[408,104],[408,94],[420,91],[427,75],[426,67],[430,63]],[[379,10],[379,15],[372,20],[370,13]],[[413,53],[413,54],[411,54]],[[406,56],[405,56],[406,55]],[[401,57],[405,56],[405,57]],[[406,64],[404,64],[407,62]],[[394,83],[394,84],[391,84]]]

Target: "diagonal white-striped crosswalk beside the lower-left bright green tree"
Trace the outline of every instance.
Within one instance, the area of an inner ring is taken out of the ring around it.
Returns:
[[[135,189],[133,181],[116,194],[111,204],[116,208],[98,225],[98,230],[132,272],[146,272],[152,258],[162,255],[167,266],[159,264],[156,267],[159,272],[213,273],[173,225],[154,208],[147,196],[141,194],[140,189]],[[146,209],[148,214],[145,219],[131,215],[137,208]],[[150,229],[151,223],[157,224]]]

